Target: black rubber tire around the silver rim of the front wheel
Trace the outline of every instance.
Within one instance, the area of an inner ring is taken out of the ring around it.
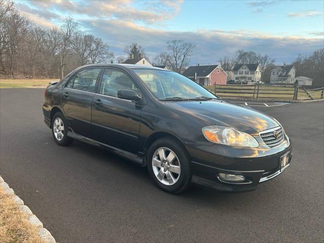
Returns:
[[[176,154],[180,163],[181,173],[179,175],[178,181],[173,185],[165,185],[162,182],[160,182],[156,178],[153,171],[153,155],[157,149],[162,147],[171,149]],[[173,194],[182,193],[190,188],[192,176],[190,169],[190,157],[183,145],[176,139],[165,137],[156,140],[147,151],[146,161],[148,172],[159,188]]]

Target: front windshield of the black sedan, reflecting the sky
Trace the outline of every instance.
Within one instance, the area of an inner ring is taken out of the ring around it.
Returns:
[[[217,99],[215,95],[187,77],[171,71],[133,69],[146,87],[159,100],[167,99]]]

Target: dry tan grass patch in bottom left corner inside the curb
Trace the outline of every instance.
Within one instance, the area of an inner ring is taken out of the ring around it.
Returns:
[[[19,210],[12,199],[0,187],[0,241],[2,243],[44,243],[37,235],[37,228],[29,223],[27,214]]]

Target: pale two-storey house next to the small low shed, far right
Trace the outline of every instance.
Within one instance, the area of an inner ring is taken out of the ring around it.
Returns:
[[[270,84],[294,84],[295,74],[294,65],[275,66],[271,70]]]

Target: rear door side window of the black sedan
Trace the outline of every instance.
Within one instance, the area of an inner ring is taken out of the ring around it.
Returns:
[[[100,70],[101,68],[88,68],[77,72],[66,88],[94,93]]]

